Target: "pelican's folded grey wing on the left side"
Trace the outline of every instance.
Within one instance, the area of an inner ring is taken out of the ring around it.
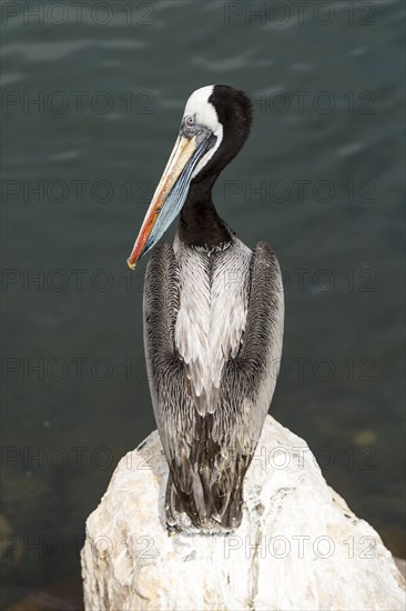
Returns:
[[[174,345],[179,309],[179,270],[172,247],[160,242],[149,261],[144,288],[144,345],[155,420],[171,475],[191,494],[194,468],[193,403],[184,365]]]

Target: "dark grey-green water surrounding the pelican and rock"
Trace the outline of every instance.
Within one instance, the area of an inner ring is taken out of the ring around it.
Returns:
[[[255,121],[215,201],[284,270],[272,413],[404,554],[404,3],[298,4],[2,3],[4,603],[78,573],[154,428],[125,259],[186,98],[216,82]]]

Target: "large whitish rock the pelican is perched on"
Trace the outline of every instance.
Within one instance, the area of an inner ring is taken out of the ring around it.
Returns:
[[[327,485],[305,441],[267,417],[230,534],[164,521],[158,432],[119,463],[87,522],[88,611],[405,609],[405,580],[377,532]]]

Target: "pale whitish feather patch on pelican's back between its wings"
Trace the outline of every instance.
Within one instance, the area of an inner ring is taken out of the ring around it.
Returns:
[[[225,362],[240,350],[248,306],[252,252],[240,240],[209,251],[179,239],[180,309],[175,347],[199,413],[213,413]]]

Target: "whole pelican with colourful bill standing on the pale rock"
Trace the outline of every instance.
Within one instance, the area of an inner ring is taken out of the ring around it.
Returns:
[[[284,320],[280,266],[267,243],[252,251],[238,240],[212,199],[251,123],[243,91],[215,84],[192,93],[128,259],[134,269],[154,248],[144,282],[144,345],[169,464],[169,531],[240,525],[244,475],[275,389]],[[156,243],[179,213],[173,246]]]

